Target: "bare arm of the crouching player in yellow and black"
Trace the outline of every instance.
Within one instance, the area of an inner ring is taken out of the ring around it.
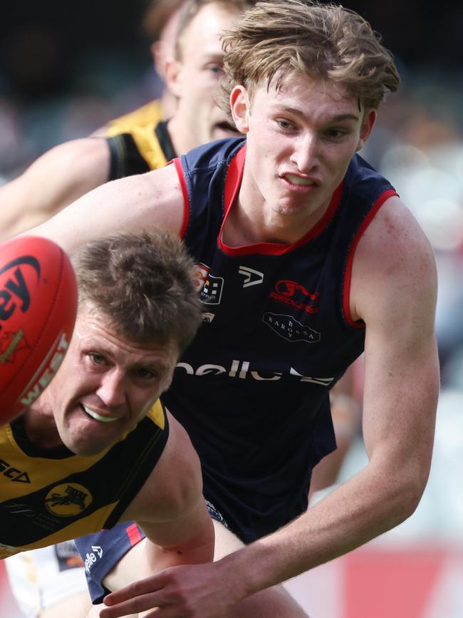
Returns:
[[[199,458],[184,428],[169,415],[170,434],[162,457],[121,520],[135,520],[147,536],[105,577],[119,589],[174,565],[208,562],[214,527],[202,496]]]

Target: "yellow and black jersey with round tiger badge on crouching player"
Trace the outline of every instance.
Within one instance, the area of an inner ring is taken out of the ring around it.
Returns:
[[[80,457],[0,427],[0,558],[113,527],[155,467],[169,427],[158,400],[110,448]]]

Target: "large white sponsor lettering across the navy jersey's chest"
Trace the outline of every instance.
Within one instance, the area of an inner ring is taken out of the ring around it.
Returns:
[[[300,382],[310,382],[312,384],[319,384],[320,386],[329,386],[331,382],[334,380],[334,376],[329,378],[319,378],[312,376],[304,376],[303,374],[299,374],[296,369],[290,367],[288,373],[283,374],[280,371],[266,371],[260,372],[251,368],[250,361],[241,361],[234,359],[231,361],[231,365],[229,367],[224,367],[223,365],[214,365],[214,364],[204,364],[194,369],[192,365],[189,363],[178,363],[176,369],[182,369],[187,372],[190,376],[222,376],[226,374],[230,378],[241,378],[241,380],[253,379],[258,381],[276,381],[281,380],[281,378],[288,378],[288,376],[294,376],[298,378]]]

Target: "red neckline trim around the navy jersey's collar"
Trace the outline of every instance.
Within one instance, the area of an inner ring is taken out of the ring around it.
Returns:
[[[256,242],[254,244],[243,244],[240,247],[229,247],[222,241],[222,232],[224,230],[225,222],[227,221],[227,215],[229,214],[231,205],[236,198],[236,194],[241,185],[241,178],[243,177],[244,170],[244,160],[246,158],[246,146],[243,146],[239,153],[231,160],[229,165],[229,170],[227,173],[227,178],[225,180],[225,194],[224,194],[224,210],[225,216],[224,221],[222,222],[222,227],[220,228],[219,233],[219,247],[222,249],[224,253],[228,255],[250,255],[250,254],[266,254],[266,255],[283,255],[293,249],[297,249],[297,247],[301,247],[302,244],[305,244],[309,240],[317,237],[323,230],[326,228],[328,223],[333,218],[336,210],[338,210],[338,206],[340,205],[340,198],[343,194],[343,182],[335,189],[333,195],[331,196],[331,202],[326,209],[321,220],[316,223],[311,230],[307,232],[305,236],[300,238],[298,241],[293,242],[292,244],[281,243],[281,242]]]

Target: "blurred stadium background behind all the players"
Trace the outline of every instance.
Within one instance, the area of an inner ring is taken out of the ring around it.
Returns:
[[[395,185],[437,255],[442,396],[430,481],[415,515],[288,587],[313,618],[463,618],[463,4],[343,4],[383,34],[402,75],[362,155]],[[145,6],[3,4],[0,183],[53,145],[160,93],[140,28]],[[341,478],[365,461],[359,436]],[[0,618],[20,615],[0,562]]]

